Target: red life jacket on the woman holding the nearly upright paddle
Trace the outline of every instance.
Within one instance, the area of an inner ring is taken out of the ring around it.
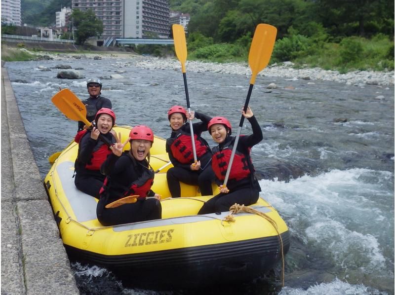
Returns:
[[[209,147],[201,138],[197,138],[197,134],[194,134],[196,156],[197,158],[204,155]],[[180,130],[176,135],[174,141],[170,145],[171,153],[173,157],[181,164],[189,164],[194,162],[194,149],[192,147],[191,134],[183,130]]]

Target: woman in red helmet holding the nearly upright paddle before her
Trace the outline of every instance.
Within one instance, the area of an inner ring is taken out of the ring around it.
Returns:
[[[167,171],[166,178],[171,196],[181,196],[180,182],[198,185],[200,193],[212,195],[211,184],[215,176],[211,169],[211,150],[207,142],[201,137],[201,133],[207,131],[207,124],[211,117],[198,112],[187,112],[181,106],[173,106],[167,112],[171,127],[171,136],[166,140],[166,151],[174,167]],[[194,123],[194,138],[197,154],[197,163],[194,162],[194,153],[191,139],[190,123],[188,119],[200,119],[201,122]]]

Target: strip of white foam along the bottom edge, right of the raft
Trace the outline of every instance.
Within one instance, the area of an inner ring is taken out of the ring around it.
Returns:
[[[351,285],[339,279],[330,283],[321,283],[309,287],[307,290],[300,288],[284,287],[278,295],[387,295],[376,289],[363,285]]]

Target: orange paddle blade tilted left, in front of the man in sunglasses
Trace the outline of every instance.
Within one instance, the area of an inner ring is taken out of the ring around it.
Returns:
[[[87,126],[90,126],[90,122],[86,119],[84,104],[70,89],[60,90],[52,97],[51,101],[69,119],[82,121]]]

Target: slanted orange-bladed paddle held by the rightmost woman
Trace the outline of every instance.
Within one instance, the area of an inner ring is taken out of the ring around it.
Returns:
[[[247,98],[245,99],[244,103],[244,112],[246,112],[248,108],[248,103],[250,101],[256,75],[269,64],[269,60],[272,56],[273,47],[276,41],[276,35],[277,29],[276,27],[273,27],[271,25],[259,24],[255,29],[254,37],[252,38],[252,43],[250,47],[250,52],[248,55],[248,64],[251,68],[252,75],[250,79],[250,87],[248,89]],[[240,123],[238,124],[235,145],[233,146],[228,170],[226,171],[225,175],[225,180],[223,184],[224,187],[226,187],[229,179],[229,174],[231,173],[233,159],[235,158],[236,148],[238,144],[238,139],[240,138],[241,127],[243,127],[243,122],[244,116],[241,115]]]

